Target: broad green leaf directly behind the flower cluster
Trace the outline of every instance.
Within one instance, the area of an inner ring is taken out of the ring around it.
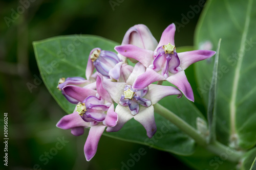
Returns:
[[[59,78],[84,77],[92,48],[100,47],[103,50],[114,51],[114,46],[118,44],[97,36],[79,35],[50,38],[34,42],[33,45],[46,87],[60,107],[67,113],[72,113],[74,105],[67,102],[56,88]],[[204,118],[195,105],[185,97],[177,99],[176,96],[168,96],[160,103],[177,113],[194,128],[196,128],[196,118]],[[104,135],[142,143],[179,155],[190,155],[194,152],[195,141],[193,139],[160,115],[155,114],[155,119],[158,131],[152,139],[147,138],[145,129],[134,119],[126,123],[119,132],[104,133]]]

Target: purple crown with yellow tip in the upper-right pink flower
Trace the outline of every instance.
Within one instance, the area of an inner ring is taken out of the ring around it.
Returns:
[[[154,56],[153,64],[149,66],[155,71],[161,71],[161,75],[166,79],[170,74],[176,74],[181,71],[180,59],[176,53],[175,46],[168,43],[160,46]]]

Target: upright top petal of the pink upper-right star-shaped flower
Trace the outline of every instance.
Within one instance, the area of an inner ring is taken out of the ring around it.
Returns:
[[[172,23],[163,31],[161,39],[157,45],[157,48],[162,45],[167,45],[168,43],[175,45],[174,43],[175,31],[176,31],[175,25],[174,23]]]

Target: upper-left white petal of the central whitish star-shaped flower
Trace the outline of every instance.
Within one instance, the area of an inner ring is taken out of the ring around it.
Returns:
[[[104,78],[103,88],[110,94],[111,98],[115,103],[119,103],[125,83],[112,82]]]

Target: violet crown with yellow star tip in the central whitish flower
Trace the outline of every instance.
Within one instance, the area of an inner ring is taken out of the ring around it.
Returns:
[[[119,104],[122,106],[129,106],[132,115],[136,115],[139,113],[139,104],[144,107],[150,107],[152,104],[150,100],[143,98],[147,91],[147,87],[141,90],[135,90],[131,85],[126,85]]]

